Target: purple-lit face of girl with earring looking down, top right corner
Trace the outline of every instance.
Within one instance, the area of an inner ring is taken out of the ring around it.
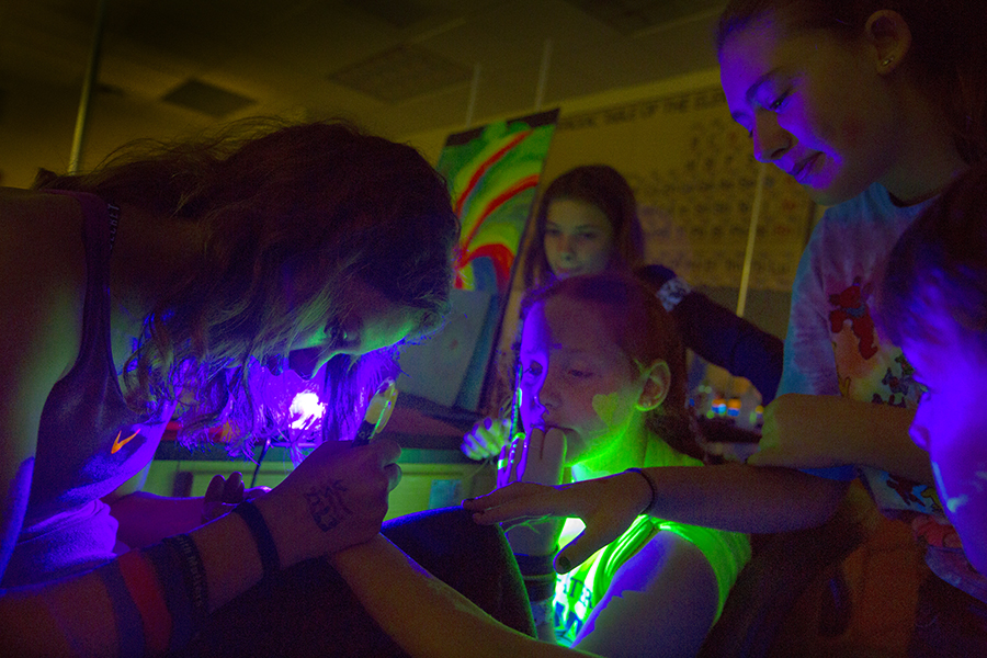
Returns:
[[[792,175],[822,205],[874,182],[912,203],[962,168],[949,140],[930,143],[945,134],[944,118],[916,111],[920,92],[899,70],[910,43],[899,14],[875,12],[854,39],[785,20],[769,12],[726,35],[719,50],[727,105],[758,160]],[[948,174],[930,169],[930,160]]]

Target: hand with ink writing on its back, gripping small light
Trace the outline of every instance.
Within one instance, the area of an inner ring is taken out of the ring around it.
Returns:
[[[375,536],[387,513],[387,496],[401,479],[400,454],[400,446],[385,438],[355,447],[349,441],[326,441],[258,498],[282,564]]]

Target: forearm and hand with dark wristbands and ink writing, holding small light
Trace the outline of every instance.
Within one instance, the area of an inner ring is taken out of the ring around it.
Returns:
[[[327,442],[256,499],[280,566],[375,536],[400,477],[399,455],[386,440],[362,447]],[[0,646],[18,656],[175,650],[197,619],[261,579],[265,553],[257,536],[240,514],[226,514],[82,576],[0,591]]]

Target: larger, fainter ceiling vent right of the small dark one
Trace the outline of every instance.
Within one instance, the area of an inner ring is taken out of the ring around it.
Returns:
[[[413,45],[378,53],[329,76],[336,84],[385,103],[398,103],[472,79],[473,71]]]

